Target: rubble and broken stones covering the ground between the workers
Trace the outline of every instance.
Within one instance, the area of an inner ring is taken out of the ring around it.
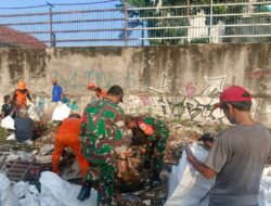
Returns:
[[[44,121],[43,121],[44,123]],[[42,125],[42,124],[41,124]],[[147,206],[147,205],[163,205],[167,197],[168,181],[172,165],[177,165],[182,153],[183,142],[196,141],[203,133],[211,132],[217,134],[225,126],[220,124],[197,124],[195,121],[179,121],[169,124],[170,137],[165,152],[165,169],[160,173],[162,185],[151,189],[149,185],[151,171],[144,169],[142,146],[130,146],[130,155],[128,162],[128,172],[118,173],[116,178],[116,189],[118,191],[117,199],[120,206]],[[57,130],[57,123],[48,121],[43,124],[42,134],[35,140],[34,145],[26,145],[17,143],[16,141],[5,141],[7,133],[1,132],[1,147],[0,147],[0,170],[5,171],[20,164],[33,165],[38,168],[39,172],[51,170],[52,152],[54,149],[54,136]],[[269,163],[271,162],[271,155]],[[30,175],[37,175],[30,166],[27,171]],[[80,183],[80,169],[73,152],[68,149],[61,158],[61,173],[62,179],[73,183]],[[15,168],[16,169],[16,168]],[[37,169],[36,169],[37,170]],[[34,176],[34,177],[35,177]],[[33,176],[31,176],[33,177]],[[38,177],[38,176],[37,176]],[[29,179],[21,178],[24,181]]]

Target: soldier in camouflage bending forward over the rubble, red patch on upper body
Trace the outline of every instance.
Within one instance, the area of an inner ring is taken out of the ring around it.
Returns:
[[[164,154],[169,137],[168,126],[162,120],[153,117],[128,117],[126,119],[128,128],[132,129],[133,138],[141,139],[145,145],[145,160],[144,165],[152,165],[151,185],[154,186],[156,182],[160,182],[159,173],[164,166]],[[137,140],[136,140],[137,141]]]

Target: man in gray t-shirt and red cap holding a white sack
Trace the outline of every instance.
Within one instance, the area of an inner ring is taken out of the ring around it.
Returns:
[[[188,159],[206,178],[217,176],[209,206],[257,206],[271,134],[264,126],[253,120],[251,98],[244,88],[225,88],[218,106],[236,126],[219,134],[205,164],[193,156],[189,145]]]

